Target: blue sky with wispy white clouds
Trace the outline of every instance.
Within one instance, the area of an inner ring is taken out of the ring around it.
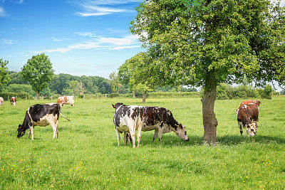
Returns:
[[[130,33],[142,0],[0,0],[0,58],[20,71],[45,53],[56,74],[108,78],[144,51]]]

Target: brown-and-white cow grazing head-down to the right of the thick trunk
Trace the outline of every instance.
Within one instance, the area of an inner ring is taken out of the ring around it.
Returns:
[[[237,123],[242,135],[242,127],[247,128],[248,136],[254,136],[257,134],[257,125],[259,121],[259,107],[250,103],[242,105],[237,112]]]

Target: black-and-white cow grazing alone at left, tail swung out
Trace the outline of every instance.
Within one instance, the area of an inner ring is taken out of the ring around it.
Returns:
[[[26,130],[28,131],[28,138],[31,134],[33,140],[33,127],[51,125],[53,127],[53,139],[58,138],[58,116],[61,114],[61,107],[56,103],[50,104],[36,104],[28,107],[22,125],[18,128],[18,138],[22,137]],[[70,121],[67,117],[61,114],[66,120]]]

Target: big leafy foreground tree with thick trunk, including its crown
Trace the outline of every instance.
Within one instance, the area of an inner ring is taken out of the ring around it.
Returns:
[[[204,142],[216,142],[217,85],[285,78],[284,8],[269,0],[146,0],[130,31],[152,61],[152,82],[204,88]]]

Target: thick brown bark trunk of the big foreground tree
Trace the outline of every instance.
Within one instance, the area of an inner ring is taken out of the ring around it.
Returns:
[[[214,115],[214,101],[216,100],[217,87],[204,90],[202,98],[202,113],[204,125],[204,143],[216,144],[217,119]]]

